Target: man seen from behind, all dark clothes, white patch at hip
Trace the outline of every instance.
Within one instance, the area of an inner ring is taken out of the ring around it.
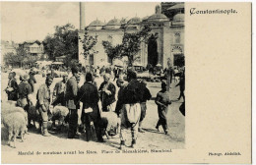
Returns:
[[[100,114],[97,105],[99,98],[96,86],[93,84],[93,75],[91,73],[87,73],[86,83],[80,87],[78,98],[83,102],[82,122],[86,125],[87,140],[92,136],[90,135],[90,133],[92,133],[92,127],[95,127],[96,138],[98,141],[102,142],[103,138],[99,128]]]

